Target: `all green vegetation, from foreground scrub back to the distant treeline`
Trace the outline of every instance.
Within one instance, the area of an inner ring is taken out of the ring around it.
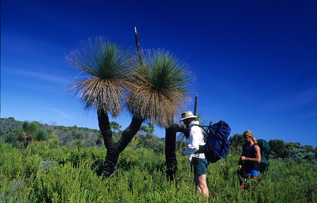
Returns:
[[[16,129],[30,123],[37,130],[18,139],[22,130]],[[178,141],[176,178],[166,179],[165,138],[153,134],[153,123],[141,126],[109,179],[101,175],[107,149],[99,130],[53,124],[1,118],[0,202],[206,202],[197,198],[190,163],[180,155],[184,140]],[[110,127],[118,140],[121,126],[112,121]],[[317,202],[316,148],[269,140],[268,172],[248,181],[242,192],[237,175],[242,135],[230,142],[228,161],[209,164],[209,202]]]

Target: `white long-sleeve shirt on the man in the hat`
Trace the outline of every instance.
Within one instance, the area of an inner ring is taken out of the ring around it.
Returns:
[[[189,162],[191,162],[192,157],[205,158],[204,153],[194,154],[199,149],[199,146],[206,144],[205,132],[199,126],[193,126],[194,124],[199,125],[199,122],[194,121],[189,125],[189,143],[187,149],[183,151],[184,155],[190,155],[188,159]]]

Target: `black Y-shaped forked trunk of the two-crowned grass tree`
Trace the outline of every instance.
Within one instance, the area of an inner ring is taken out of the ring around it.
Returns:
[[[119,154],[130,143],[134,135],[140,129],[144,119],[133,116],[131,124],[122,132],[122,136],[118,142],[114,142],[112,138],[112,131],[109,125],[108,114],[98,110],[99,128],[107,149],[106,159],[102,169],[103,177],[110,177],[114,174],[117,168]]]

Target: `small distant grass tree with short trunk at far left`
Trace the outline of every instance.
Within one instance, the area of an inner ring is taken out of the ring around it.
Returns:
[[[22,128],[14,130],[14,133],[17,135],[17,140],[24,142],[24,149],[26,149],[29,141],[31,141],[36,135],[36,132],[39,129],[39,124],[36,121],[29,122],[26,120],[21,126]]]

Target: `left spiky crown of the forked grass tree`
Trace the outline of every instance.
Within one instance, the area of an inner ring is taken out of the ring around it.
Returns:
[[[102,109],[117,117],[129,86],[127,76],[132,60],[129,47],[106,41],[102,36],[88,38],[65,54],[64,59],[80,71],[67,91],[74,93],[85,111]]]

